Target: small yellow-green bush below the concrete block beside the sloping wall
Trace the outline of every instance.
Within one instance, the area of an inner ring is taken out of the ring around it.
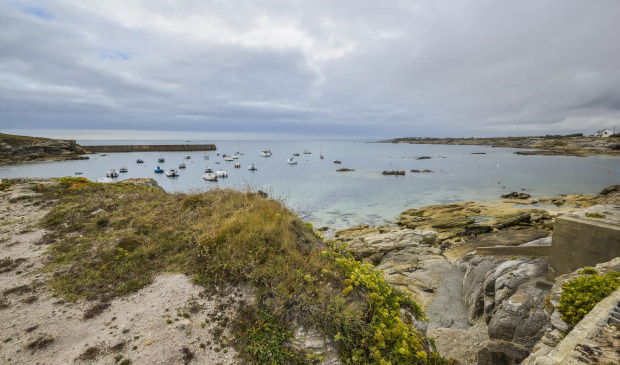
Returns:
[[[620,284],[615,271],[599,275],[592,268],[584,268],[579,273],[587,276],[576,277],[562,285],[560,304],[557,307],[562,313],[562,319],[573,327]]]

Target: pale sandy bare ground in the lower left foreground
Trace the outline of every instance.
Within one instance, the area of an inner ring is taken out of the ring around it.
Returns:
[[[0,363],[2,364],[236,364],[223,322],[235,303],[250,299],[235,290],[206,298],[178,273],[99,308],[66,302],[47,287],[45,231],[49,209],[20,196],[23,186],[0,192]],[[218,341],[218,339],[220,341]]]

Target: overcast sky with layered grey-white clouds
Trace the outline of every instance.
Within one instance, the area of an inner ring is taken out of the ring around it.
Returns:
[[[77,139],[620,129],[620,1],[0,0],[0,131]]]

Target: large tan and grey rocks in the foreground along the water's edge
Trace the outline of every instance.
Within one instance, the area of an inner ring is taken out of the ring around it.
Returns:
[[[519,364],[526,358],[528,364],[565,363],[549,356],[568,359],[579,354],[559,345],[569,326],[554,309],[563,283],[583,275],[576,271],[549,280],[548,256],[478,251],[494,246],[549,247],[558,214],[584,216],[584,208],[599,211],[599,206],[618,209],[619,188],[536,200],[515,192],[496,202],[422,207],[403,212],[397,227],[360,225],[337,231],[334,238],[346,243],[357,259],[382,270],[392,286],[411,293],[430,319],[422,330],[434,338],[442,355],[461,364]],[[536,208],[539,202],[557,209]],[[619,264],[616,259],[597,269],[618,271]],[[620,293],[616,297],[620,299]],[[612,350],[618,338],[613,327],[594,321],[587,331],[611,336],[612,345],[597,353],[598,359],[617,356]],[[585,337],[574,343],[579,341]]]

